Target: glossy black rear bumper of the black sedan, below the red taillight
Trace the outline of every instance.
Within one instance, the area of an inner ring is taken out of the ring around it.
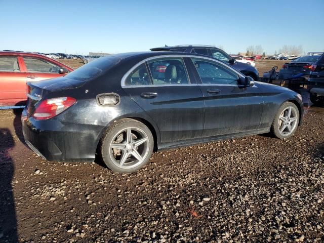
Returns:
[[[21,117],[26,144],[39,156],[55,161],[94,161],[102,127],[66,123],[58,118]]]

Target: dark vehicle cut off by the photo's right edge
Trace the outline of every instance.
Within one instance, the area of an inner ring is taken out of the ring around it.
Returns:
[[[324,106],[324,54],[322,54],[310,68],[308,91],[310,101],[315,105]]]

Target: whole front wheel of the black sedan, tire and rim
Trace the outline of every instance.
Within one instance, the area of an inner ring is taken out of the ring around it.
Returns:
[[[297,106],[292,102],[285,102],[280,106],[272,121],[271,134],[279,139],[290,138],[296,132],[299,117],[300,114]]]

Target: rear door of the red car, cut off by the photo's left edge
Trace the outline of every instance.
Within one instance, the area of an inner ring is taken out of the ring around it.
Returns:
[[[26,75],[20,57],[0,56],[0,106],[24,105]]]

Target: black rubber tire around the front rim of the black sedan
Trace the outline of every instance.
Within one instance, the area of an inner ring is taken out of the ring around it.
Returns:
[[[297,119],[296,119],[296,123],[297,124],[296,125],[294,124],[294,127],[293,127],[293,129],[292,129],[292,131],[291,131],[290,134],[288,134],[288,135],[282,135],[280,133],[280,131],[279,131],[279,126],[278,126],[278,124],[279,124],[279,117],[280,117],[281,113],[284,112],[288,107],[292,107],[292,108],[295,109],[295,111],[296,111],[296,117],[297,117]],[[280,106],[279,110],[277,111],[276,115],[274,116],[274,119],[273,119],[272,125],[271,125],[271,129],[270,129],[270,133],[274,137],[279,138],[279,139],[288,139],[288,138],[290,138],[296,132],[296,129],[297,129],[298,124],[299,124],[299,117],[300,117],[300,113],[299,113],[299,110],[298,110],[297,106],[294,103],[292,103],[292,102],[285,102],[284,104],[282,104]]]

